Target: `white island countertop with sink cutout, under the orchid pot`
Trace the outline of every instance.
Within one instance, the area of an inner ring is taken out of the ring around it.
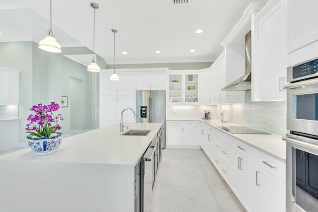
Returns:
[[[148,129],[147,136],[121,136],[119,124],[63,138],[59,150],[49,155],[35,155],[31,148],[5,155],[0,160],[45,162],[103,163],[136,165],[150,142],[157,136],[161,124],[129,123],[130,129]],[[127,130],[124,130],[127,131]]]

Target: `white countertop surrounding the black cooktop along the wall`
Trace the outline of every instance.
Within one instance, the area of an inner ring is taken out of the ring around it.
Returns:
[[[221,130],[217,126],[241,126],[234,123],[222,123],[218,119],[167,119],[167,121],[201,121],[226,133],[240,141],[246,142],[253,147],[268,153],[277,159],[286,163],[286,142],[282,140],[283,136],[276,134],[263,135],[263,134],[231,134],[224,130]],[[259,129],[257,129],[259,130]]]

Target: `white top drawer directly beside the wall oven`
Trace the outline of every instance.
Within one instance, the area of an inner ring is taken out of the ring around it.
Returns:
[[[284,162],[259,151],[258,165],[281,181],[286,182],[286,164]]]

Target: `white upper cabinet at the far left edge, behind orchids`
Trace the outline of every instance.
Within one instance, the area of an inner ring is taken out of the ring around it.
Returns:
[[[19,72],[13,68],[0,68],[0,105],[19,104]]]

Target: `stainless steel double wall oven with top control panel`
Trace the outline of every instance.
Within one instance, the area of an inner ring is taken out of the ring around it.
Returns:
[[[287,69],[286,211],[318,210],[318,59]]]

